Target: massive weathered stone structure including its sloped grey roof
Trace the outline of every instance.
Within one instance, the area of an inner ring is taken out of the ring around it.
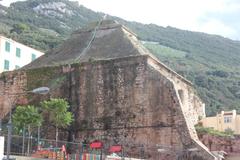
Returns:
[[[75,32],[58,49],[18,72],[0,76],[0,109],[7,94],[40,85],[51,97],[69,100],[75,123],[69,140],[121,144],[128,156],[146,159],[212,160],[194,124],[204,104],[192,84],[159,62],[136,35],[112,21]],[[35,103],[38,96],[13,97]],[[159,151],[159,152],[158,152]]]

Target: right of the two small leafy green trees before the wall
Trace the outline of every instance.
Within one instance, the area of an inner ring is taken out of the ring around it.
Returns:
[[[56,128],[56,147],[58,142],[58,129],[66,128],[73,121],[73,115],[68,111],[69,104],[64,99],[50,99],[41,103],[48,115],[49,122]]]

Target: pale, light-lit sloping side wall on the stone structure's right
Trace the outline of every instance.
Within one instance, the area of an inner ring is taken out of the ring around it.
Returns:
[[[175,97],[175,102],[177,102],[176,108],[179,109],[178,113],[180,113],[179,117],[177,118],[184,120],[182,123],[180,123],[181,121],[178,121],[176,126],[179,126],[179,133],[182,134],[181,137],[191,137],[191,140],[184,140],[185,148],[183,150],[186,150],[186,148],[189,149],[196,147],[199,151],[202,152],[195,152],[191,153],[190,155],[194,157],[192,154],[201,153],[201,156],[204,157],[203,153],[205,153],[205,159],[208,159],[208,156],[211,157],[211,153],[209,153],[207,147],[199,141],[196,130],[194,128],[194,124],[196,124],[198,121],[198,117],[205,115],[205,111],[202,109],[204,104],[194,94],[191,83],[183,79],[183,77],[176,74],[175,72],[169,70],[166,66],[164,66],[164,64],[161,64],[152,58],[148,59],[148,64],[150,64],[160,74],[164,75],[164,77],[166,77],[173,85],[174,89],[172,90],[171,95]],[[172,108],[174,107],[172,106]],[[197,113],[197,110],[200,112]],[[184,157],[183,159],[187,158]],[[196,159],[196,157],[194,157],[194,159]]]

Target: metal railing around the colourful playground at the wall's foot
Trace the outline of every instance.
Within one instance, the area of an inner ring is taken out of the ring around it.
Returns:
[[[7,136],[7,134],[3,134],[3,136]],[[5,154],[6,150],[6,138],[5,138]],[[57,146],[56,146],[57,145]],[[68,154],[63,152],[63,148],[65,147],[68,150]],[[135,146],[136,148],[137,146]],[[142,146],[138,146],[142,147]],[[29,151],[28,149],[29,148]],[[38,138],[28,137],[28,136],[19,136],[12,135],[12,143],[11,143],[11,153],[10,155],[17,156],[29,156],[36,158],[50,158],[50,159],[68,159],[68,160],[104,160],[111,159],[106,158],[106,155],[109,155],[109,147],[106,146],[102,149],[91,149],[90,144],[84,144],[80,142],[68,142],[68,141],[56,141],[53,139],[44,139],[41,138],[38,144]],[[130,156],[126,153],[121,152],[118,153],[119,157]],[[144,159],[144,152],[139,151],[136,157],[142,157]],[[117,159],[117,158],[115,158]],[[121,159],[121,158],[120,158]],[[125,158],[127,159],[127,158]]]

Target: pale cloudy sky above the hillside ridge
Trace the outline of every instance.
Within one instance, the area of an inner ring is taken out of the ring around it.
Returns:
[[[17,0],[3,0],[9,3]],[[76,0],[75,0],[76,1]],[[218,34],[240,40],[240,0],[78,0],[126,20]]]

